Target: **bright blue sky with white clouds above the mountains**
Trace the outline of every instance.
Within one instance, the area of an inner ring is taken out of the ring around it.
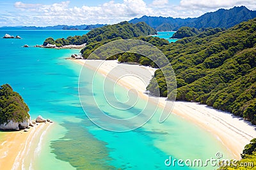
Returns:
[[[0,0],[0,27],[116,24],[143,15],[193,18],[242,5],[256,10],[255,0]]]

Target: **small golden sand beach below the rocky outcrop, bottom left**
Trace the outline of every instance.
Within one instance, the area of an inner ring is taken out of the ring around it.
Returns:
[[[28,132],[3,132],[4,140],[0,143],[0,169],[22,169],[26,159],[35,156],[41,145],[40,140],[49,127],[50,123],[41,123],[26,129]]]

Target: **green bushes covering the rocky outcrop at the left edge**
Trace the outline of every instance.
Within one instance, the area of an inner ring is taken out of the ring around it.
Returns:
[[[0,87],[0,124],[13,122],[24,122],[29,118],[29,108],[24,103],[22,97],[13,92],[10,85],[5,84]]]

